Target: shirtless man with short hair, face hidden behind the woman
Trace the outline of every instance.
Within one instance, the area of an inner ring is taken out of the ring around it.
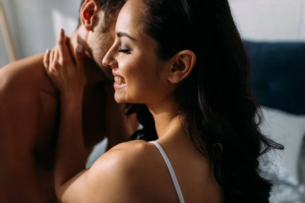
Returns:
[[[102,65],[124,2],[83,0],[80,25],[67,42],[71,55],[77,44],[86,48],[83,128],[88,154],[105,136],[111,148],[126,141],[137,127],[135,117],[127,118],[124,106],[115,103],[113,86],[107,82],[113,79],[111,70]],[[43,54],[0,69],[0,202],[55,199],[52,170],[59,100],[44,71]]]

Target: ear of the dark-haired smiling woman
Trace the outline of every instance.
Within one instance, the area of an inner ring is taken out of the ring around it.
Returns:
[[[170,72],[167,80],[171,83],[178,83],[192,72],[196,63],[196,55],[190,50],[183,50],[177,53],[169,62]]]

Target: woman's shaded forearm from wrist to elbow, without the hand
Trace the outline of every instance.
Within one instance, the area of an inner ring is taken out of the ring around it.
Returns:
[[[85,169],[86,153],[82,132],[82,94],[62,96],[54,168],[56,189]]]

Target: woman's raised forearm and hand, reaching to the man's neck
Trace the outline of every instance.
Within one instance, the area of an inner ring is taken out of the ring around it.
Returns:
[[[64,184],[85,169],[86,162],[82,129],[86,78],[80,46],[75,50],[75,60],[76,66],[69,55],[64,30],[61,30],[56,48],[44,57],[46,72],[60,91],[60,125],[54,166],[57,194],[62,194]]]

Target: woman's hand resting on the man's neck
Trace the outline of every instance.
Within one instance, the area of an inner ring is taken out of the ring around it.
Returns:
[[[78,45],[74,50],[74,54],[76,65],[69,54],[67,37],[62,29],[60,30],[55,48],[47,50],[44,55],[43,63],[46,73],[56,88],[58,88],[62,97],[82,97],[86,85],[82,46]]]

